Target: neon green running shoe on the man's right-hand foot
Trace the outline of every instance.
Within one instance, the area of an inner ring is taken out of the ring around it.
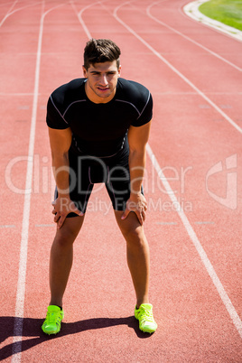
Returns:
[[[144,332],[153,333],[157,329],[152,310],[151,303],[142,303],[138,309],[135,306],[135,318],[139,321],[139,329]]]

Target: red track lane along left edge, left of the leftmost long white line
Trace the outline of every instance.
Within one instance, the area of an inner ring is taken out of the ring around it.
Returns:
[[[36,14],[38,16],[38,9],[35,11],[34,4],[24,14],[23,8],[14,9],[12,6],[0,29],[4,49],[1,54],[1,154],[4,156],[1,162],[1,204],[4,207],[1,209],[1,225],[6,227],[1,228],[4,258],[1,259],[1,275],[5,276],[2,281],[4,291],[1,294],[1,339],[5,340],[5,344],[12,342],[13,331],[10,333],[9,330],[14,330],[25,188],[23,178],[27,172],[28,155],[25,135],[29,135],[30,128],[34,83],[32,70],[36,57],[35,29],[31,35],[32,42],[26,47],[23,23],[19,20],[23,19],[28,24],[29,19],[35,19]],[[23,46],[21,50],[18,48],[20,44]],[[9,348],[10,354],[12,347],[13,345]]]

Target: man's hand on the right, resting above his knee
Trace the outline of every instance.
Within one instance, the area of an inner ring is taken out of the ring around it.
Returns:
[[[145,210],[147,209],[147,201],[142,193],[132,194],[126,202],[126,210],[121,219],[126,219],[131,211],[134,211],[139,222],[143,225],[145,220]]]

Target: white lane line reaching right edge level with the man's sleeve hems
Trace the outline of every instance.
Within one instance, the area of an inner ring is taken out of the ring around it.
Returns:
[[[127,30],[128,32],[132,33],[133,35],[135,35],[135,38],[137,38],[140,42],[142,42],[150,51],[152,51],[154,53],[154,55],[156,55],[156,57],[158,57],[161,61],[163,61],[163,63],[165,63],[171,70],[173,70],[174,73],[176,73],[181,79],[184,80],[184,82],[186,82],[191,88],[193,88],[199,95],[201,98],[204,98],[210,106],[212,106],[214,109],[216,109],[217,112],[219,112],[219,114],[221,116],[223,116],[230,125],[234,126],[237,131],[239,133],[242,134],[242,128],[239,127],[237,125],[237,123],[235,121],[232,120],[232,118],[230,118],[224,111],[221,110],[221,108],[219,108],[210,98],[208,98],[201,90],[200,88],[197,88],[192,82],[191,80],[187,79],[179,70],[177,70],[174,66],[172,66],[172,63],[170,63],[170,61],[167,61],[158,51],[155,51],[155,49],[146,41],[144,41],[144,39],[138,35],[137,33],[135,33],[135,31],[128,26],[125,22],[123,22],[123,20],[121,20],[118,16],[117,16],[117,11],[124,5],[129,4],[130,2],[126,2],[122,5],[118,5],[114,11],[114,17],[116,18],[116,21],[118,23],[121,23]]]

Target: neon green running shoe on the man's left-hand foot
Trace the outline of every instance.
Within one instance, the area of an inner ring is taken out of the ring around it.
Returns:
[[[59,306],[48,306],[45,321],[42,323],[42,331],[48,335],[57,334],[61,330],[61,320],[63,318],[64,312]]]

